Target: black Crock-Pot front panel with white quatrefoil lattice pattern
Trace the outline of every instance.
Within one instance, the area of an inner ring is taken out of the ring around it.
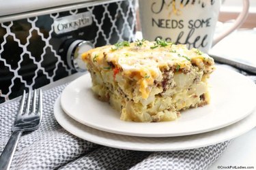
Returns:
[[[0,103],[40,88],[75,71],[68,67],[63,44],[67,39],[91,41],[95,47],[134,41],[135,0],[93,5],[66,12],[0,23]],[[89,12],[91,24],[56,33],[55,20]]]

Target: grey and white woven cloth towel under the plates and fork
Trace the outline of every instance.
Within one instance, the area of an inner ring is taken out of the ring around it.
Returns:
[[[251,76],[255,79],[255,76]],[[11,169],[207,169],[230,141],[193,150],[139,152],[100,146],[68,133],[55,120],[53,107],[66,84],[44,91],[40,128],[20,137]],[[0,107],[0,154],[19,101]]]

